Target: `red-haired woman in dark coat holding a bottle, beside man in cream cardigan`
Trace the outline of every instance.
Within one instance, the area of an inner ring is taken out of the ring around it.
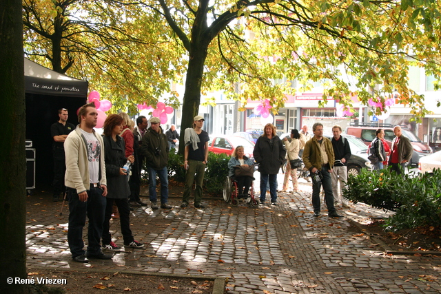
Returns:
[[[107,116],[103,129],[105,174],[107,176],[107,204],[102,235],[103,249],[108,251],[119,250],[119,247],[112,242],[112,235],[109,232],[113,203],[116,204],[119,210],[124,246],[142,248],[144,245],[134,240],[130,230],[130,207],[128,202],[130,188],[123,166],[127,160],[133,163],[134,157],[131,155],[125,158],[124,140],[119,136],[123,130],[123,118],[117,114]]]

